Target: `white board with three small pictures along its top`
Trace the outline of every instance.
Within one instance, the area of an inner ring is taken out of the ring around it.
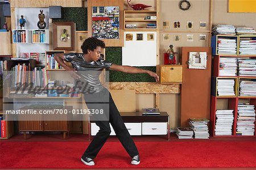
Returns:
[[[156,66],[156,32],[124,32],[123,66]]]

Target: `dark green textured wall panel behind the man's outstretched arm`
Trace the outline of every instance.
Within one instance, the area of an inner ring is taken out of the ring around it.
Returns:
[[[122,65],[122,47],[107,47],[106,60]],[[156,72],[156,67],[137,67]],[[129,74],[121,71],[109,71],[109,82],[155,82],[148,74]]]

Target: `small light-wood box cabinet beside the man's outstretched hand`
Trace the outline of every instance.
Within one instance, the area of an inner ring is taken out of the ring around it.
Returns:
[[[161,84],[182,84],[183,65],[162,65],[160,66]]]

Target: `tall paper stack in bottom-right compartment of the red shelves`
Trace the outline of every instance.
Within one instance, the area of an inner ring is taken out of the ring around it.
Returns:
[[[237,112],[237,135],[254,135],[255,107],[249,103],[239,103]]]

